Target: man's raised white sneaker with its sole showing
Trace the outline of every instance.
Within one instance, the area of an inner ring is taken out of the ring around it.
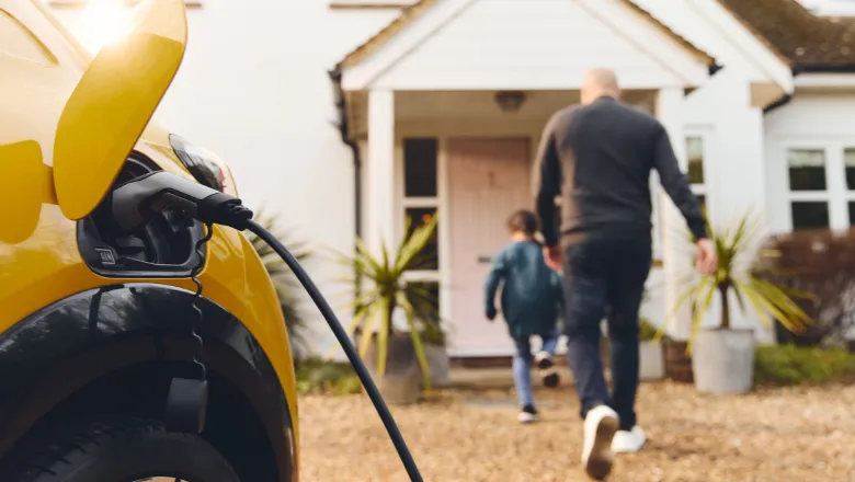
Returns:
[[[612,438],[614,438],[617,427],[617,413],[608,406],[598,405],[588,412],[582,466],[591,479],[604,480],[612,472],[612,463],[614,462]]]

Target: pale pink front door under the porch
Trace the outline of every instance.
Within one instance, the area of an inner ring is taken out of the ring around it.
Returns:
[[[452,347],[461,355],[510,355],[513,344],[501,314],[483,315],[490,259],[509,243],[505,222],[531,209],[527,138],[457,138],[447,144],[452,242]],[[499,290],[501,292],[501,288]],[[498,302],[497,308],[501,310]]]

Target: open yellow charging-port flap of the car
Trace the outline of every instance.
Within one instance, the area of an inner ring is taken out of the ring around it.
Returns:
[[[107,43],[65,102],[53,152],[54,185],[69,219],[88,216],[172,83],[187,43],[183,0],[148,0]]]

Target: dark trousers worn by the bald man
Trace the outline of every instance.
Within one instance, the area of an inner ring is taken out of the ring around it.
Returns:
[[[649,240],[589,240],[565,251],[567,358],[573,370],[581,415],[600,404],[620,417],[620,429],[636,424],[638,310],[650,273]],[[600,322],[608,321],[612,349],[609,397],[600,358]]]

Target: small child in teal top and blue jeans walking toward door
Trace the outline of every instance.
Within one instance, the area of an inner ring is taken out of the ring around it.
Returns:
[[[514,385],[522,411],[517,420],[535,422],[537,410],[532,394],[532,347],[529,338],[538,335],[543,348],[535,360],[540,369],[544,385],[557,387],[559,377],[555,370],[552,355],[558,344],[558,313],[563,296],[558,273],[544,261],[543,249],[535,241],[537,217],[529,210],[514,213],[508,220],[511,244],[493,257],[493,266],[487,277],[485,289],[487,319],[493,321],[499,283],[504,280],[501,302],[508,331],[516,345],[513,358]]]

